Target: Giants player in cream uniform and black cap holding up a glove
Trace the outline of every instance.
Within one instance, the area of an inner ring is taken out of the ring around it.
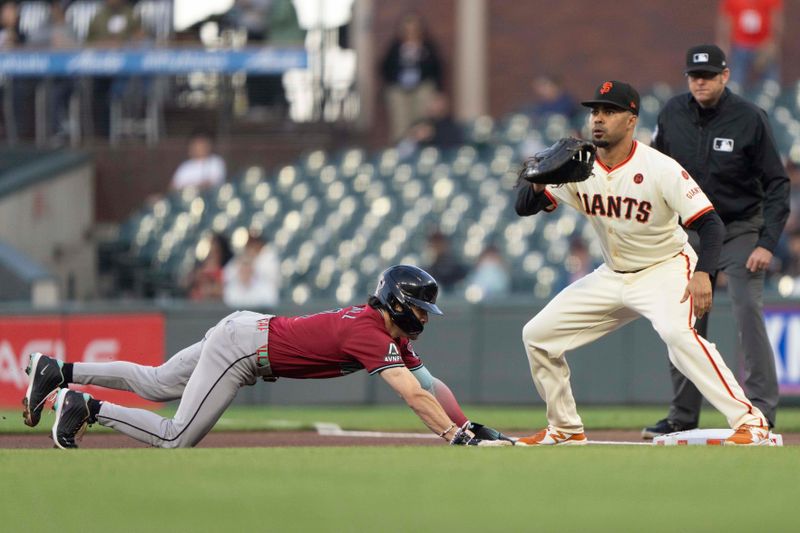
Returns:
[[[748,400],[715,346],[693,329],[711,307],[709,272],[716,268],[723,226],[692,177],[673,159],[633,139],[639,95],[607,81],[592,100],[597,146],[593,175],[561,187],[526,182],[520,216],[563,203],[597,232],[604,264],[561,291],[523,328],[536,389],[547,402],[548,427],[518,444],[585,444],[564,353],[643,316],[669,349],[670,361],[719,409],[736,431],[726,445],[767,445],[766,419]],[[700,235],[700,256],[678,223]]]

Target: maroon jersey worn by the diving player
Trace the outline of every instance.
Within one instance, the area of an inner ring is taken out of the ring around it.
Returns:
[[[362,368],[375,374],[395,366],[422,366],[408,339],[393,339],[381,313],[368,305],[275,317],[268,349],[276,377],[335,378]]]

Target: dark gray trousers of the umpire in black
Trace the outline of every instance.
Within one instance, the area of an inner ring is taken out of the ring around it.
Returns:
[[[733,306],[739,344],[744,352],[744,390],[747,397],[775,425],[778,408],[778,377],[775,357],[764,324],[764,272],[750,272],[745,264],[756,247],[762,220],[737,220],[725,226],[725,241],[719,270],[728,276],[728,292]],[[698,249],[697,233],[689,231],[689,242]],[[708,338],[708,315],[695,323],[695,329]],[[674,396],[668,418],[685,426],[696,426],[703,396],[691,381],[670,363]]]

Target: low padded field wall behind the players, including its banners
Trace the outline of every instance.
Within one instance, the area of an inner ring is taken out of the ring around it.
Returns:
[[[523,324],[543,302],[493,305],[441,302],[447,316],[433,318],[415,349],[434,375],[465,403],[541,403],[521,344]],[[318,303],[283,307],[279,314],[303,314],[335,307]],[[785,394],[800,392],[800,300],[772,300],[767,325],[779,353]],[[155,364],[197,342],[230,310],[184,302],[162,306],[92,306],[37,313],[0,309],[0,406],[18,407],[27,378],[29,351],[56,353],[68,361],[138,360]],[[715,302],[711,338],[742,376],[730,304]],[[653,404],[670,397],[666,348],[645,320],[575,350],[569,355],[575,397],[582,404]],[[100,397],[103,397],[102,393]],[[107,397],[107,396],[106,396]],[[130,402],[130,398],[119,401]],[[789,398],[786,398],[789,400]],[[397,402],[377,377],[365,372],[339,379],[278,380],[245,387],[239,403],[371,404]]]

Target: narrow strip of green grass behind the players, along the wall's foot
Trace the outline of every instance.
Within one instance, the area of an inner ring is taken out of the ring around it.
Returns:
[[[587,430],[641,429],[666,414],[666,407],[580,407]],[[170,414],[172,409],[163,409]],[[544,408],[464,406],[472,420],[509,430],[540,429],[545,422]],[[231,407],[225,412],[216,430],[296,430],[312,429],[314,422],[334,422],[346,429],[385,431],[424,430],[410,409],[403,405],[347,407]],[[52,413],[42,415],[42,423],[30,429],[22,423],[22,410],[0,411],[0,433],[47,432]],[[701,427],[727,427],[725,419],[713,408],[703,411]],[[98,428],[93,428],[92,431]],[[782,408],[778,413],[777,432],[800,432],[800,408]]]

